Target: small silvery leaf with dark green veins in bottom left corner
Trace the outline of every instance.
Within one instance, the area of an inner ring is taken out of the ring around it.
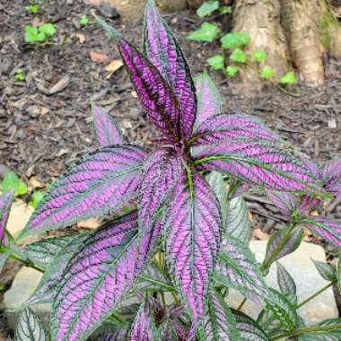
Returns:
[[[30,308],[22,311],[15,328],[15,341],[47,341],[40,319]]]

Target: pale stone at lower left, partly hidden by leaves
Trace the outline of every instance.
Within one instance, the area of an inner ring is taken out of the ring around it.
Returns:
[[[11,328],[15,328],[22,305],[30,298],[34,289],[39,284],[42,273],[31,267],[22,267],[15,276],[11,288],[4,293],[4,309]],[[48,326],[50,304],[41,303],[31,305],[31,309]]]

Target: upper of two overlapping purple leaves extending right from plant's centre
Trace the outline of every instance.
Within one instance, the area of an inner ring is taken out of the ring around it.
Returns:
[[[277,141],[279,137],[257,118],[248,115],[217,115],[207,118],[197,127],[193,145],[219,144],[235,138],[258,138]]]

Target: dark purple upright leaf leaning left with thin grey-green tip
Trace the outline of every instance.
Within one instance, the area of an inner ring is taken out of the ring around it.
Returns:
[[[146,115],[170,141],[178,141],[181,138],[177,122],[180,109],[170,85],[157,68],[123,39],[118,31],[101,18],[96,19],[109,36],[116,40],[119,53]]]

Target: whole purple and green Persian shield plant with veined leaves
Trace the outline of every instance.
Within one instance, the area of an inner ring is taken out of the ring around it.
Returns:
[[[144,114],[162,136],[150,148],[127,144],[108,113],[93,105],[99,148],[57,179],[22,232],[20,239],[106,217],[93,232],[46,238],[22,250],[23,261],[44,272],[25,306],[51,302],[51,340],[85,340],[102,325],[107,331],[95,339],[264,341],[316,330],[338,335],[337,320],[304,326],[284,267],[277,266],[281,292],[268,288],[263,275],[298,245],[303,223],[341,245],[336,221],[293,214],[308,207],[304,200],[317,203],[328,191],[337,193],[341,172],[324,176],[322,189],[319,174],[284,152],[261,121],[224,114],[214,83],[207,74],[192,78],[153,1],[145,7],[142,52],[96,19],[116,41]],[[250,186],[265,188],[294,221],[274,237],[262,267],[248,247],[241,194]],[[258,321],[229,307],[229,288],[263,306]],[[30,309],[19,329],[43,330]]]

